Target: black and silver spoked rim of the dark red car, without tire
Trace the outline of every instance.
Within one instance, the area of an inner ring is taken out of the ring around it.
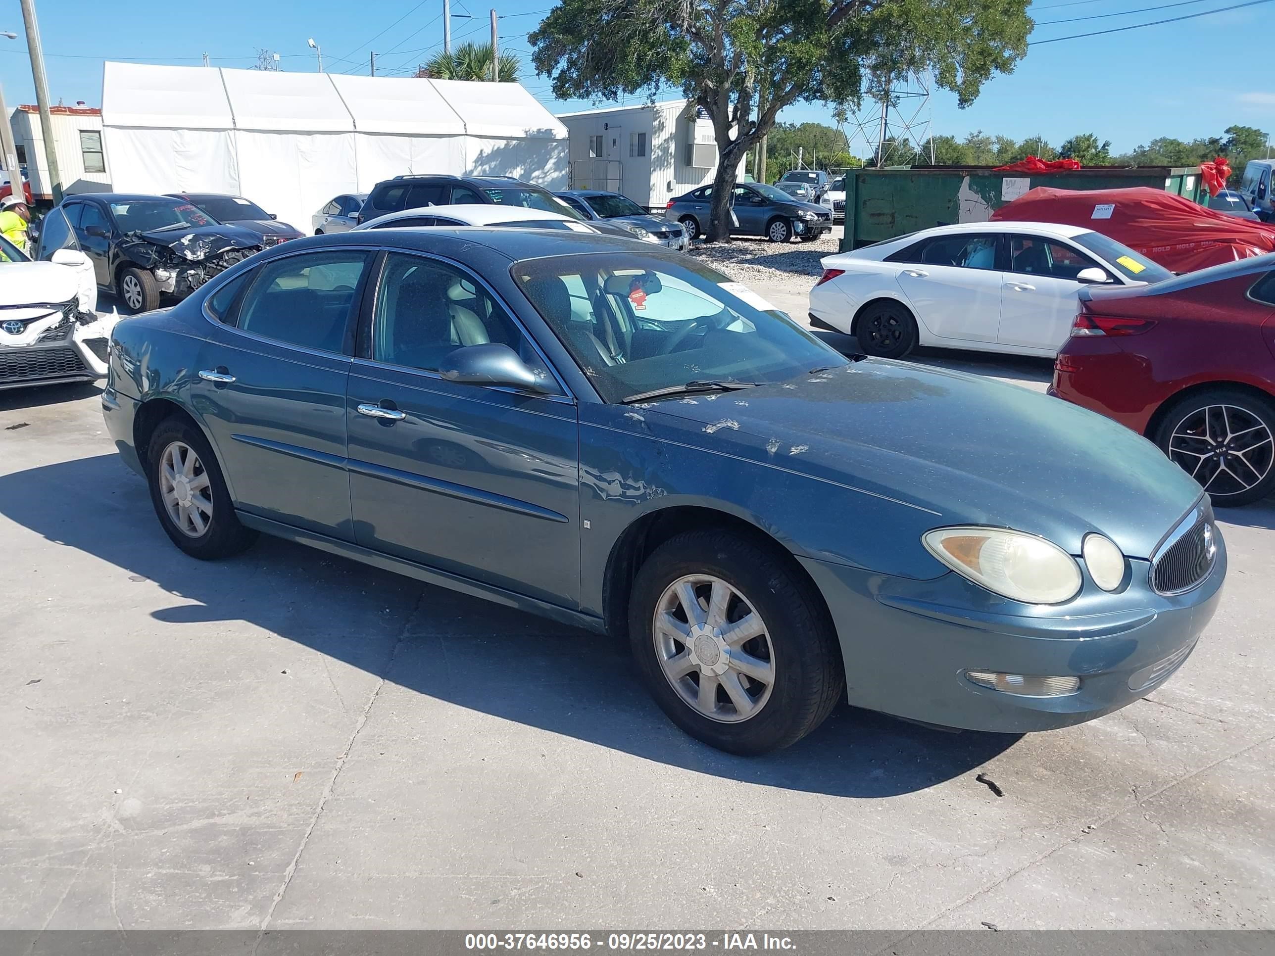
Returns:
[[[1266,423],[1246,408],[1205,405],[1173,428],[1169,458],[1210,495],[1239,495],[1270,474],[1272,437]]]

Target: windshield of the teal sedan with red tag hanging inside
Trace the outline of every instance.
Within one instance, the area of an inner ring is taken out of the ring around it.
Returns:
[[[784,382],[848,361],[687,256],[515,263],[513,275],[606,402],[688,381]]]

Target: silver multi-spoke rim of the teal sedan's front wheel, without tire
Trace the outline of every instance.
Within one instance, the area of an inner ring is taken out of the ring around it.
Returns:
[[[775,654],[761,616],[711,575],[680,577],[655,605],[660,670],[699,714],[724,724],[761,713],[775,684]]]

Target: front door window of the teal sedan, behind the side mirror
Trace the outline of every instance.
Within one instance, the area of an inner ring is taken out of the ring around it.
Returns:
[[[507,345],[552,382],[514,320],[465,273],[404,252],[385,257],[372,317],[374,361],[436,372],[455,349],[488,343]]]

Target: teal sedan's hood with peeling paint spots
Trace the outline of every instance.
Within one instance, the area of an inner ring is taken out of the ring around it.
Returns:
[[[655,409],[681,441],[931,510],[936,528],[1016,528],[1072,554],[1100,532],[1149,557],[1201,495],[1151,442],[1102,416],[905,362],[664,399],[644,409],[648,421]]]

